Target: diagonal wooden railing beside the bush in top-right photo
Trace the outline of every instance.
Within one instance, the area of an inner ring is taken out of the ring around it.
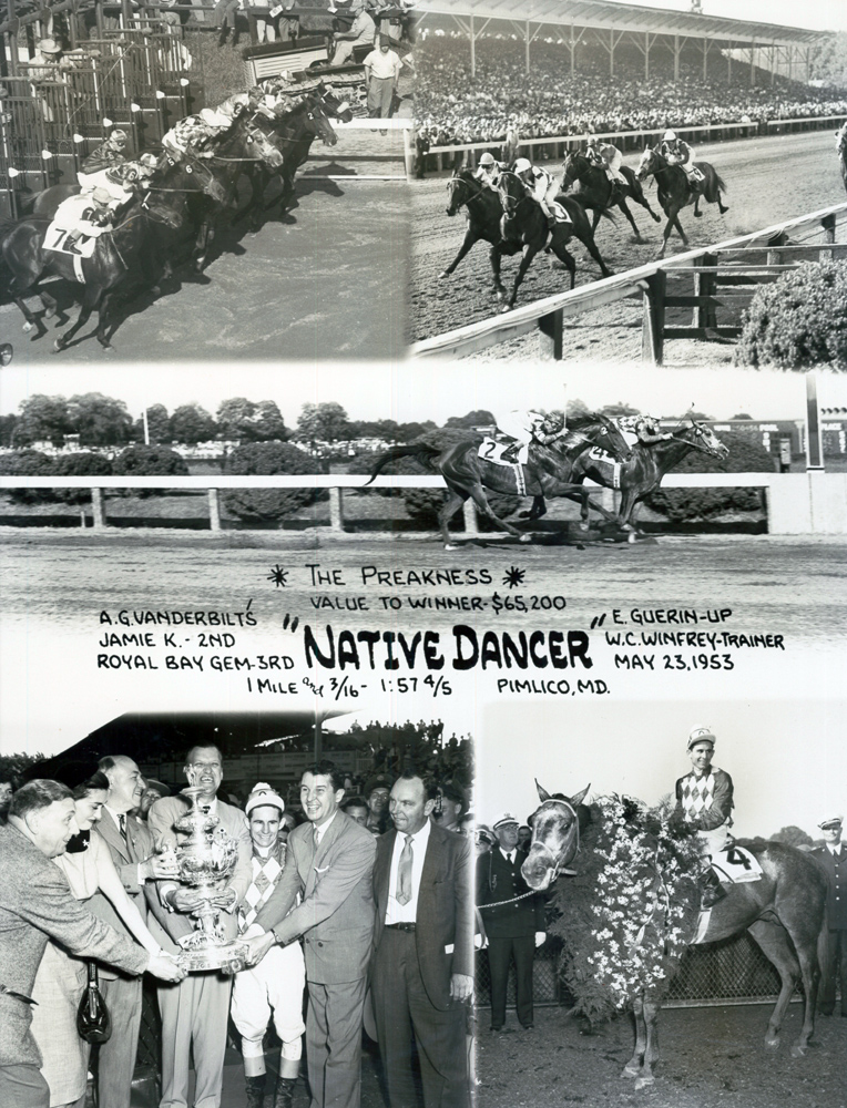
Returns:
[[[784,235],[803,230],[822,229],[828,242],[835,240],[835,226],[838,215],[847,212],[847,203],[836,204],[833,207],[822,208],[809,215],[798,216],[787,219],[784,223],[774,224],[763,230],[754,232],[752,235],[742,235],[738,238],[731,238],[714,246],[698,247],[695,250],[686,250],[684,254],[676,254],[662,261],[654,261],[635,269],[627,269],[626,273],[615,274],[612,277],[604,277],[601,280],[592,281],[580,288],[571,289],[568,293],[557,293],[554,296],[544,297],[532,304],[522,305],[519,308],[488,319],[481,319],[476,324],[468,324],[453,331],[446,331],[431,339],[424,339],[412,343],[410,353],[414,358],[461,358],[498,342],[506,342],[528,335],[537,328],[541,334],[550,339],[552,343],[552,355],[561,359],[563,322],[574,316],[580,316],[585,311],[602,308],[606,304],[614,304],[616,300],[625,299],[629,296],[642,295],[643,298],[643,328],[642,328],[642,352],[645,360],[661,365],[661,338],[659,336],[660,320],[657,319],[656,306],[661,299],[661,290],[656,290],[659,274],[666,275],[673,270],[695,268],[704,257],[714,255],[721,250],[731,250],[743,246],[754,246],[756,244],[767,245],[776,242]]]

